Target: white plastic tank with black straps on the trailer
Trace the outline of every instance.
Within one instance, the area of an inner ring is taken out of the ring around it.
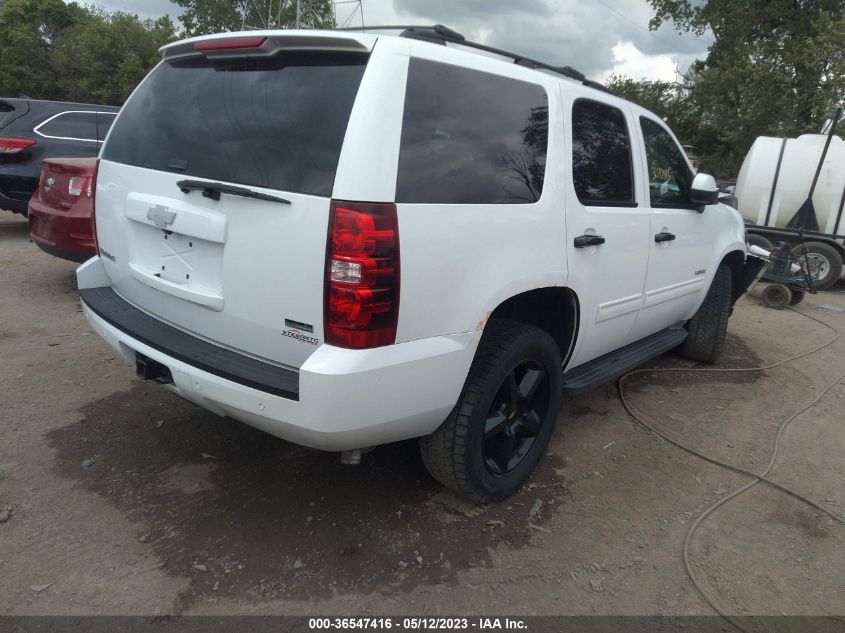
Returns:
[[[826,134],[758,137],[736,182],[742,217],[761,226],[785,227],[807,199],[826,140]],[[820,232],[845,231],[844,203],[845,142],[833,136],[813,194]]]

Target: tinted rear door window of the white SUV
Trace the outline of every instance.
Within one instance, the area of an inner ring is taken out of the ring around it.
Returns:
[[[572,180],[583,204],[636,206],[631,139],[620,109],[589,99],[575,101]]]

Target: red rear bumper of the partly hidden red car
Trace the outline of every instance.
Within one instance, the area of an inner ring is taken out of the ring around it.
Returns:
[[[44,251],[75,262],[96,255],[91,229],[91,200],[81,198],[70,209],[54,209],[33,196],[29,201],[29,234]]]

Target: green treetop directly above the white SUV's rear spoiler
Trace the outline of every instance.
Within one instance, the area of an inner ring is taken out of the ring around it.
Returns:
[[[179,21],[186,35],[207,35],[254,28],[293,28],[296,0],[172,0],[182,8]],[[300,26],[334,26],[331,0],[300,0]]]

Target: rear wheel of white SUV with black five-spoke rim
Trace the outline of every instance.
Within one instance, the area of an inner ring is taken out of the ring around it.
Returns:
[[[561,382],[560,350],[551,336],[509,319],[490,321],[457,405],[420,438],[428,472],[482,503],[515,493],[549,443]]]

